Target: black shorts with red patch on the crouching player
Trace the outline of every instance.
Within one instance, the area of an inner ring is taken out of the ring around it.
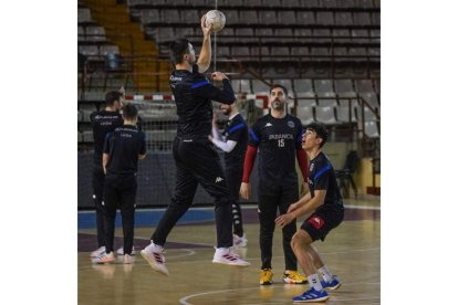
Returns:
[[[341,224],[343,218],[343,206],[323,206],[304,220],[301,229],[308,232],[313,241],[318,239],[324,241],[327,233]]]

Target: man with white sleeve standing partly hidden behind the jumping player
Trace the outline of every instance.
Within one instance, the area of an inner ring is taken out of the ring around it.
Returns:
[[[217,147],[225,151],[226,179],[232,202],[233,245],[246,246],[247,235],[243,232],[242,214],[239,202],[240,183],[243,176],[243,158],[247,151],[248,126],[239,114],[236,104],[221,105],[222,113],[229,116],[223,138],[218,133],[216,116],[214,117],[212,136],[208,136]]]

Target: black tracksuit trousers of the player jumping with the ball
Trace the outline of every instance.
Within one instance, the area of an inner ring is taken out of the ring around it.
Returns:
[[[226,185],[218,152],[207,139],[180,139],[174,141],[174,159],[177,168],[175,194],[162,217],[152,240],[163,245],[177,221],[192,204],[197,186],[215,199],[217,246],[232,245],[232,213],[229,191]]]

